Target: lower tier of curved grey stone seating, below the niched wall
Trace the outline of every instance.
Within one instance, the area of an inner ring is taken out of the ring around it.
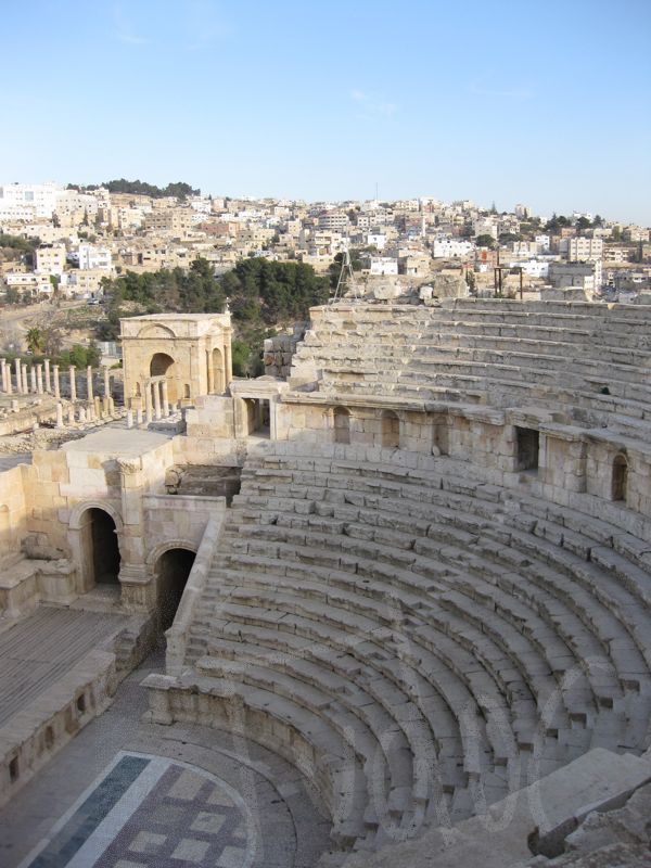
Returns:
[[[591,746],[647,746],[644,558],[449,459],[260,445],[187,663],[270,746],[309,744],[335,834],[375,848]]]

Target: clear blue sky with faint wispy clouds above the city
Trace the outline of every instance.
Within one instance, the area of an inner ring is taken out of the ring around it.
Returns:
[[[0,183],[651,225],[651,0],[0,0]]]

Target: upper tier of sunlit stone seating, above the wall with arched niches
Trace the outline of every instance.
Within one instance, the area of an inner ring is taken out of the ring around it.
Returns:
[[[354,312],[350,312],[350,311]],[[322,309],[293,375],[318,391],[495,407],[538,405],[567,423],[642,436],[651,418],[651,310],[455,299],[442,308]],[[382,312],[384,311],[384,312]]]

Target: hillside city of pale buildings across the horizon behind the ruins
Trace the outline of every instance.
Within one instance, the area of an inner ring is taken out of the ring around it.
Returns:
[[[472,292],[522,288],[549,298],[571,289],[629,302],[651,288],[648,228],[592,214],[538,216],[523,204],[498,213],[429,196],[330,203],[209,196],[183,183],[11,183],[0,187],[0,232],[5,303],[98,303],[107,278],[187,269],[197,258],[215,276],[257,257],[327,273],[346,248],[361,283],[395,278],[396,292],[436,276],[462,277]]]

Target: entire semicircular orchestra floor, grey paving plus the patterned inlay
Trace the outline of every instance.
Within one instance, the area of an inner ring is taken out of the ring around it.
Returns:
[[[143,723],[152,658],[0,809],[0,868],[314,868],[330,820],[294,767],[248,739]]]

